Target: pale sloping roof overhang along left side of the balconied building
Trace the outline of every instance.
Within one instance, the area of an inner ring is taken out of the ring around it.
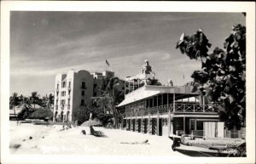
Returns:
[[[130,93],[129,97],[128,96],[125,97],[125,100],[122,101],[118,105],[118,107],[123,106],[123,105],[128,105],[130,103],[136,102],[136,101],[141,100],[141,99],[149,98],[149,97],[157,95],[159,93],[160,93],[160,91],[152,91],[152,90],[142,90],[142,92],[137,92],[135,94]]]

